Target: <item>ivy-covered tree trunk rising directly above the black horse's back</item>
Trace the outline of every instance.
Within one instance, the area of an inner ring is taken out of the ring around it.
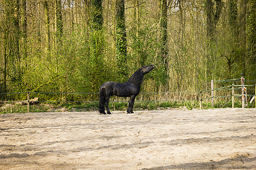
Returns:
[[[115,40],[115,53],[117,58],[117,73],[122,77],[127,76],[127,40],[126,40],[126,27],[125,27],[125,1],[116,1],[116,40]]]

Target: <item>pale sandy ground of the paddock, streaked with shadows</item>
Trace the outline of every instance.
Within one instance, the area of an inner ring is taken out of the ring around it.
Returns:
[[[0,115],[0,169],[256,169],[256,109]]]

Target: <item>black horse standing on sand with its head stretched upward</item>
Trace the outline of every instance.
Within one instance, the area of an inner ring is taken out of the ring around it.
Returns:
[[[109,111],[109,97],[113,95],[119,97],[130,97],[127,113],[133,113],[134,99],[139,94],[139,88],[141,87],[142,79],[144,75],[149,73],[152,69],[154,69],[153,65],[141,67],[125,83],[103,83],[100,87],[100,113],[106,114],[106,105],[107,113],[111,114]]]

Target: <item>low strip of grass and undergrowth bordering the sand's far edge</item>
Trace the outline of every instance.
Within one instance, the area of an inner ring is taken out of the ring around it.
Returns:
[[[246,108],[254,108],[254,103],[248,103]],[[126,111],[128,103],[126,102],[112,102],[109,103],[110,111]],[[241,102],[234,103],[235,108],[241,108]],[[64,111],[69,112],[86,112],[98,111],[98,103],[68,103],[68,104],[34,104],[30,105],[30,112],[54,112],[59,111],[54,108],[64,108]],[[159,109],[199,109],[199,101],[163,101],[163,102],[135,102],[134,111],[143,110],[159,110]],[[203,103],[203,109],[212,108],[232,108],[231,102],[217,101],[212,107],[210,102]],[[5,104],[0,106],[0,113],[27,113],[27,105]]]

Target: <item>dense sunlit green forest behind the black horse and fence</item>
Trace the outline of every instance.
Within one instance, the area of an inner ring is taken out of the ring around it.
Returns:
[[[0,0],[0,93],[98,92],[151,64],[142,92],[256,80],[255,15],[256,0]]]

